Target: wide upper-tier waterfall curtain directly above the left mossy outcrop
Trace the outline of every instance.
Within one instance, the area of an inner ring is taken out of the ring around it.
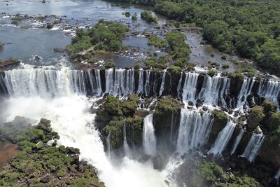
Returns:
[[[133,69],[106,69],[106,93],[122,96],[134,92],[134,70]]]

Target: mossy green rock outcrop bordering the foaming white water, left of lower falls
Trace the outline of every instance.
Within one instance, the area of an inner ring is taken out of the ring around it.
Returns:
[[[123,146],[123,129],[126,126],[127,143],[141,144],[143,118],[137,116],[137,95],[130,95],[127,99],[118,99],[112,95],[106,97],[105,102],[97,109],[97,124],[105,141],[110,134],[112,148]],[[107,145],[108,146],[108,145]]]

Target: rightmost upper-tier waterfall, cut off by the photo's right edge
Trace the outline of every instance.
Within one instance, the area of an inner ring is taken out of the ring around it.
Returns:
[[[260,81],[260,85],[258,87],[258,95],[261,97],[265,97],[267,99],[272,100],[272,102],[278,103],[280,93],[280,83],[279,81]]]

